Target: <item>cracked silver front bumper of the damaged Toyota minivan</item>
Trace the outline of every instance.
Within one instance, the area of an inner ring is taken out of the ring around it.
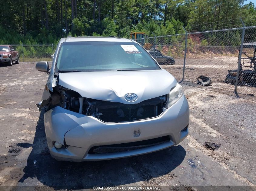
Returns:
[[[53,158],[65,161],[96,161],[123,158],[159,151],[180,143],[187,135],[189,108],[185,96],[160,116],[125,123],[104,123],[95,117],[85,116],[55,107],[44,115],[48,148]],[[134,132],[140,131],[140,136]],[[162,144],[114,153],[90,154],[94,146],[138,142],[162,136],[170,141]],[[56,149],[53,142],[69,145]],[[65,142],[64,142],[65,141]]]

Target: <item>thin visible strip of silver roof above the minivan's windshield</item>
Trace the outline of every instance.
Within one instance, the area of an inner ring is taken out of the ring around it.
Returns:
[[[98,41],[98,42],[135,42],[131,39],[126,38],[115,38],[115,37],[67,37],[62,38],[60,41],[63,42],[89,42],[89,41]]]

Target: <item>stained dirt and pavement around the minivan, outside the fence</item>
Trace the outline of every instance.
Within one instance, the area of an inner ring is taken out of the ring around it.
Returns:
[[[182,84],[190,124],[188,137],[179,145],[131,158],[59,162],[49,154],[44,112],[35,105],[47,77],[34,62],[0,67],[0,190],[122,185],[256,190],[254,101]]]

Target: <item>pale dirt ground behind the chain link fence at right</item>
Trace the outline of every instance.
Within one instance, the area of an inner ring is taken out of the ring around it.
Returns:
[[[197,78],[200,75],[211,78],[211,86],[202,87],[208,90],[236,96],[234,85],[225,83],[228,70],[237,70],[237,58],[213,58],[213,59],[186,59],[185,75],[183,83],[197,86]],[[162,68],[170,72],[177,81],[182,80],[184,59],[175,59],[175,65],[161,65]],[[247,64],[248,65],[248,64]],[[244,67],[245,69],[250,69]],[[256,81],[251,81],[250,86],[237,87],[237,94],[245,99],[256,100]]]

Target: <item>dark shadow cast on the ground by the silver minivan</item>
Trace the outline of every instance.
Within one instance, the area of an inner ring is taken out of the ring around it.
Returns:
[[[85,189],[150,181],[171,173],[186,155],[185,149],[178,145],[155,153],[108,161],[56,161],[47,148],[43,114],[42,111],[36,126],[33,149],[19,185],[34,185],[33,178],[53,189]]]

